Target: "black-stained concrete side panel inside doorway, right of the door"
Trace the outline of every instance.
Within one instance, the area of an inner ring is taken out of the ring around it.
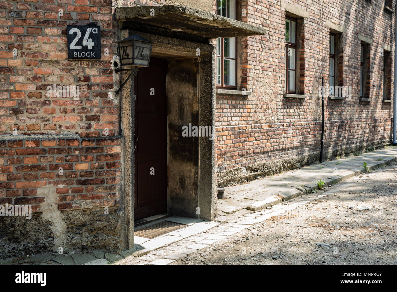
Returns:
[[[183,137],[182,127],[198,125],[198,72],[193,58],[170,60],[168,99],[168,210],[195,217],[198,207],[198,137]]]

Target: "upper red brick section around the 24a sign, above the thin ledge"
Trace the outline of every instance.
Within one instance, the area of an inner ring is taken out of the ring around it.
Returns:
[[[0,1],[0,133],[119,133],[115,81],[117,24],[111,0]],[[63,15],[58,15],[58,10]],[[67,24],[101,27],[101,60],[67,60]],[[16,49],[17,56],[13,55]],[[104,54],[108,50],[108,55]],[[79,86],[80,98],[48,97],[47,86]]]

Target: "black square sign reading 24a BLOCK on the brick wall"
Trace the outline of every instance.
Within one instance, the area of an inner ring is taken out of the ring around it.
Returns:
[[[100,59],[100,27],[67,25],[67,58]]]

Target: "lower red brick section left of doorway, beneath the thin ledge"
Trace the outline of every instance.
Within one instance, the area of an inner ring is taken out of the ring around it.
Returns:
[[[0,204],[41,211],[37,189],[52,185],[59,186],[59,210],[120,205],[120,140],[0,141]]]

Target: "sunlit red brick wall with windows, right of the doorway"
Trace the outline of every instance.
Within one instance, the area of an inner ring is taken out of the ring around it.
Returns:
[[[343,33],[341,76],[343,85],[352,86],[353,96],[351,100],[326,98],[324,151],[390,142],[392,104],[382,102],[383,56],[380,52],[383,44],[394,46],[392,28],[395,15],[384,12],[383,0],[353,4],[342,0],[326,3],[288,1],[308,13],[300,34],[303,52],[299,54],[299,80],[306,99],[283,97],[285,9],[280,6],[280,1],[241,0],[240,3],[247,9],[247,17],[242,20],[262,25],[268,33],[239,38],[243,49],[247,50],[247,58],[243,53],[238,65],[242,75],[237,78],[241,87],[251,90],[252,95],[217,95],[218,171],[319,153],[322,116],[318,87],[321,77],[324,77],[325,84],[329,82],[330,27],[326,21],[347,29]],[[373,39],[370,48],[370,102],[359,99],[358,33]],[[393,53],[391,58],[394,58]],[[218,180],[222,184],[220,174]]]

